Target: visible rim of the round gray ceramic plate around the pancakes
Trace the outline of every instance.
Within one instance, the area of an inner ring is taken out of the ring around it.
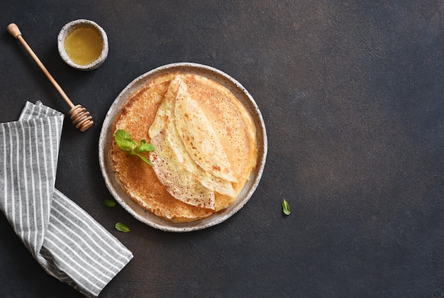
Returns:
[[[121,189],[120,185],[116,181],[116,177],[113,170],[111,170],[110,160],[108,158],[109,142],[113,138],[111,136],[111,126],[113,125],[114,118],[116,118],[118,112],[121,110],[122,106],[126,103],[131,94],[133,94],[133,92],[140,87],[143,87],[146,82],[154,77],[178,71],[209,77],[233,92],[233,94],[240,99],[248,111],[250,111],[250,114],[252,115],[252,118],[256,124],[257,140],[259,143],[259,154],[257,157],[258,160],[256,170],[252,172],[249,182],[245,185],[242,192],[240,192],[240,196],[236,202],[217,214],[213,214],[206,219],[200,219],[199,221],[193,221],[190,223],[172,223],[170,221],[166,221],[165,219],[155,216],[149,211],[145,211],[145,209],[141,208],[138,204],[135,204],[133,199],[131,199],[131,197],[129,197],[128,194]],[[146,223],[154,228],[158,228],[162,231],[170,232],[187,232],[208,228],[226,221],[226,219],[233,216],[233,214],[235,214],[248,202],[253,192],[255,192],[257,184],[259,184],[260,177],[262,176],[262,171],[264,170],[266,156],[267,134],[265,132],[265,125],[262,115],[260,114],[260,110],[252,96],[241,84],[239,84],[239,82],[220,70],[195,63],[173,63],[170,65],[157,67],[155,70],[151,70],[150,72],[147,72],[133,80],[133,82],[128,84],[128,86],[123,89],[121,94],[117,96],[116,100],[109,108],[104,125],[101,128],[99,138],[100,168],[109,192],[111,192],[116,201],[121,204],[126,211],[132,214],[135,219],[138,219],[139,221],[142,221],[143,223]]]

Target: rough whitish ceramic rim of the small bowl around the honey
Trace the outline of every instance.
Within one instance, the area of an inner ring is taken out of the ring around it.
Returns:
[[[101,54],[99,55],[99,57],[96,58],[96,60],[90,62],[87,65],[79,65],[76,62],[72,61],[65,48],[65,40],[67,36],[70,35],[70,33],[72,33],[72,31],[77,28],[94,28],[101,36]],[[106,35],[104,29],[101,28],[101,26],[99,26],[94,21],[79,19],[76,21],[71,21],[70,23],[67,23],[65,26],[63,26],[62,30],[60,30],[60,33],[57,36],[57,48],[59,50],[60,57],[62,57],[62,60],[65,61],[67,65],[70,65],[77,70],[94,70],[99,67],[108,56],[108,36]]]

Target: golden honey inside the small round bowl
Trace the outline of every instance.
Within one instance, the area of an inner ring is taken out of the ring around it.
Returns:
[[[67,35],[65,50],[72,62],[89,65],[101,55],[103,39],[95,28],[80,26]]]

